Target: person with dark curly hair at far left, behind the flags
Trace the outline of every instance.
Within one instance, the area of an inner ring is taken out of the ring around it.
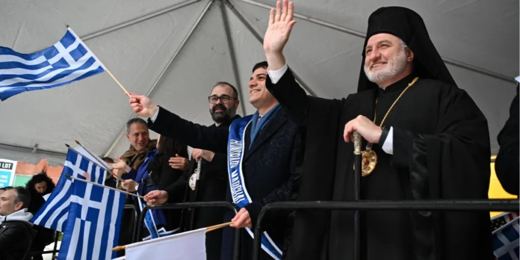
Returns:
[[[49,178],[46,173],[38,173],[29,180],[25,187],[31,193],[29,212],[34,215],[45,203],[43,196],[53,192],[55,185],[53,179]],[[33,228],[37,231],[37,233],[31,244],[31,252],[44,251],[46,245],[54,242],[55,231],[37,225],[34,225]],[[43,259],[42,255],[33,256],[33,260],[40,259]]]

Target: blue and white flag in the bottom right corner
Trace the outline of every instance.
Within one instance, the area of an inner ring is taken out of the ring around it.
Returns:
[[[497,260],[518,260],[520,249],[520,217],[492,232],[493,253]]]

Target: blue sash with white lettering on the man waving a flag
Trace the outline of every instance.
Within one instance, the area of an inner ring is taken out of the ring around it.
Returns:
[[[248,190],[245,187],[244,175],[242,173],[242,159],[244,157],[244,134],[245,129],[251,123],[253,115],[244,116],[243,118],[235,119],[229,126],[228,138],[228,175],[229,187],[231,190],[231,197],[233,202],[237,204],[240,209],[252,202],[249,197]],[[245,228],[251,238],[254,238],[251,228]],[[262,233],[262,249],[276,260],[282,259],[282,251],[275,244],[274,241],[267,235],[267,232]]]

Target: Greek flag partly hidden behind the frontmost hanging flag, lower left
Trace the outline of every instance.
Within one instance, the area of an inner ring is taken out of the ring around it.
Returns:
[[[64,175],[78,177],[84,176],[86,173],[89,175],[89,180],[96,183],[100,182],[101,184],[105,182],[106,171],[103,168],[89,161],[77,151],[69,149],[56,188],[50,193],[47,201],[34,214],[30,222],[38,226],[64,232],[67,226],[67,218],[69,217],[68,213],[73,188],[72,179]]]

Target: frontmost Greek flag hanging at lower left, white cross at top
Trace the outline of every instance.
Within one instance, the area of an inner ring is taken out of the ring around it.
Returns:
[[[95,168],[99,172],[99,167]],[[104,181],[88,174],[78,175],[77,178],[100,185]],[[125,198],[119,191],[74,180],[58,260],[108,260],[116,257],[112,248],[118,245]]]

